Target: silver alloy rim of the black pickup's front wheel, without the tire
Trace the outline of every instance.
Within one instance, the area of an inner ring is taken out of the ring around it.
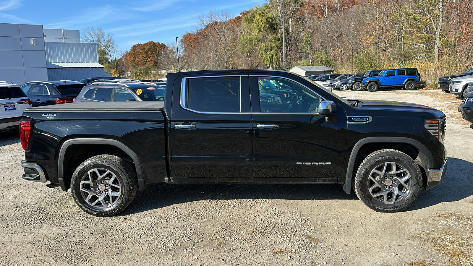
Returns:
[[[385,162],[375,167],[368,176],[369,194],[384,204],[395,204],[411,194],[412,175],[396,162]]]

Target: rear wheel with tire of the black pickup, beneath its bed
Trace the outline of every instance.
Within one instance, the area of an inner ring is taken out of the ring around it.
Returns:
[[[74,201],[86,213],[114,216],[131,203],[138,180],[123,159],[104,154],[82,162],[72,175],[70,188]]]

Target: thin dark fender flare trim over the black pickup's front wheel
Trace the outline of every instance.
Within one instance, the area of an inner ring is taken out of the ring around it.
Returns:
[[[373,143],[373,142],[395,142],[395,143],[406,143],[406,144],[411,144],[412,146],[416,147],[419,151],[421,151],[426,159],[427,159],[427,166],[429,168],[434,168],[434,157],[432,156],[432,153],[420,142],[411,139],[411,138],[405,138],[405,137],[368,137],[359,140],[356,142],[356,144],[353,146],[353,149],[351,150],[350,154],[350,159],[348,160],[348,166],[347,166],[347,175],[345,177],[345,183],[343,183],[343,190],[345,190],[346,193],[350,194],[351,193],[351,181],[353,180],[353,171],[355,167],[355,160],[356,156],[358,154],[359,149],[365,144],[368,143]]]

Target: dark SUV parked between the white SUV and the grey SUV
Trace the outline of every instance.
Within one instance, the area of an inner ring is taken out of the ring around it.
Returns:
[[[21,86],[21,89],[31,99],[33,107],[71,103],[84,83],[73,80],[30,81]]]

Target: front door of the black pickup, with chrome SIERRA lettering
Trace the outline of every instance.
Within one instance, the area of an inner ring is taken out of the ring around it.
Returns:
[[[294,93],[289,103],[266,102],[258,84],[284,83]],[[254,131],[253,177],[294,178],[294,182],[336,182],[346,150],[347,118],[337,108],[339,122],[327,124],[318,114],[322,97],[294,80],[250,76]],[[299,177],[299,178],[298,178]],[[274,182],[278,180],[274,179]],[[280,180],[291,182],[291,180]]]

